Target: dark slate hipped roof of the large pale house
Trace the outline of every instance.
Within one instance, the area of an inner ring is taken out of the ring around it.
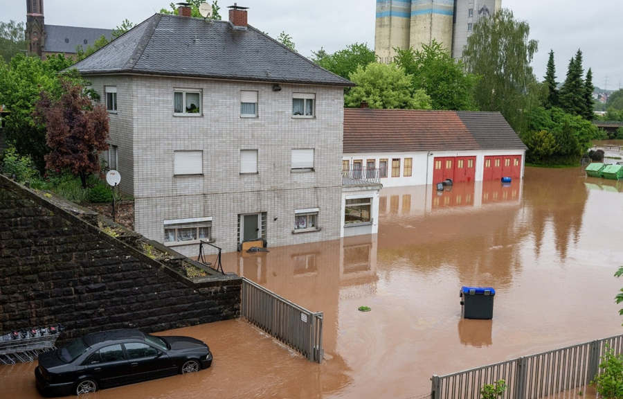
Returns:
[[[73,65],[85,75],[148,73],[354,86],[251,26],[156,14]]]

